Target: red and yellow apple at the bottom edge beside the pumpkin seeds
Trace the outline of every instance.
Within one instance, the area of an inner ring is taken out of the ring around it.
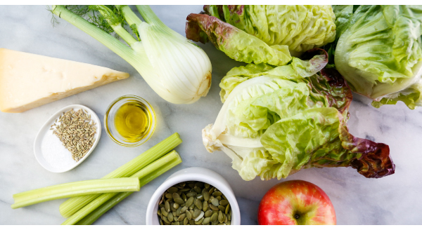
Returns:
[[[335,224],[335,211],[327,194],[315,184],[289,180],[276,184],[258,208],[258,224]]]

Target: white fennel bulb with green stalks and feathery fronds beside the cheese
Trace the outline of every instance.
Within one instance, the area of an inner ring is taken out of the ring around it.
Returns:
[[[120,55],[167,102],[191,104],[205,97],[211,86],[212,67],[204,50],[167,27],[149,6],[136,7],[145,22],[129,6],[53,6],[51,12]],[[81,17],[91,11],[97,12],[89,15],[92,23]],[[136,39],[124,29],[125,23]],[[115,32],[130,48],[108,32]]]

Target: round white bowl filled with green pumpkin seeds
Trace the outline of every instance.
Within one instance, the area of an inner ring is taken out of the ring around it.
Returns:
[[[174,172],[158,187],[146,209],[146,224],[240,225],[241,212],[224,177],[192,167]]]

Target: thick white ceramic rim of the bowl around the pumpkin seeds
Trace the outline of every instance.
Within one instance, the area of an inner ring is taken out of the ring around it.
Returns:
[[[205,182],[219,189],[219,191],[221,191],[222,194],[226,196],[230,203],[231,225],[241,224],[241,212],[229,182],[227,182],[226,179],[224,179],[224,177],[219,175],[217,172],[207,168],[192,167],[174,172],[173,175],[168,177],[167,180],[165,180],[165,182],[163,182],[161,186],[158,187],[158,189],[151,197],[150,202],[148,203],[148,208],[146,208],[147,225],[160,225],[160,222],[158,222],[157,210],[158,202],[160,202],[162,194],[174,184],[186,181]]]

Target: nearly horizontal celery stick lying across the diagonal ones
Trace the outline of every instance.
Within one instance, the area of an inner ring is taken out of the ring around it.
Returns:
[[[22,208],[44,201],[52,201],[72,196],[103,194],[117,191],[139,191],[140,188],[139,180],[136,180],[136,178],[84,180],[82,182],[57,184],[14,194],[13,199],[15,200],[15,203],[11,205],[11,207],[13,209]]]

